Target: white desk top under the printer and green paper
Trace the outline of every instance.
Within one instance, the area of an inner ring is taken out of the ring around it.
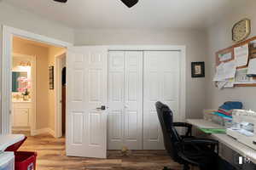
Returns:
[[[198,128],[224,128],[218,124],[203,119],[187,119],[187,122]],[[225,144],[230,149],[235,150],[241,156],[250,158],[250,160],[256,164],[256,150],[253,150],[245,144],[241,144],[227,134],[212,133],[211,137],[212,139],[216,139],[220,143]]]

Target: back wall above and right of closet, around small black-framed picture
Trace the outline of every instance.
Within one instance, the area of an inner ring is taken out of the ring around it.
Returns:
[[[204,61],[207,56],[206,32],[185,29],[150,30],[77,30],[75,45],[186,45],[187,47],[187,117],[201,117],[206,104],[206,79],[191,78],[192,61]]]

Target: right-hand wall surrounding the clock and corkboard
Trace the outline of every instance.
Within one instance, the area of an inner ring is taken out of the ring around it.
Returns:
[[[207,108],[217,108],[218,105],[228,100],[241,101],[246,109],[256,110],[256,88],[232,88],[218,90],[214,87],[212,77],[215,69],[215,53],[222,48],[230,47],[232,26],[243,18],[252,20],[251,37],[256,36],[256,3],[246,1],[243,6],[236,8],[233,14],[223,16],[222,20],[211,26],[207,31],[208,55],[207,55]]]

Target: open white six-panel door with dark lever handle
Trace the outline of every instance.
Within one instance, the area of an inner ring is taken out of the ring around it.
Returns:
[[[107,157],[107,77],[108,48],[68,48],[67,156]]]

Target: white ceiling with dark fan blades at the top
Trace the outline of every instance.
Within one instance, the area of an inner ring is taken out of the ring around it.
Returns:
[[[203,28],[244,0],[139,0],[127,8],[120,0],[3,0],[49,20],[75,28]]]

